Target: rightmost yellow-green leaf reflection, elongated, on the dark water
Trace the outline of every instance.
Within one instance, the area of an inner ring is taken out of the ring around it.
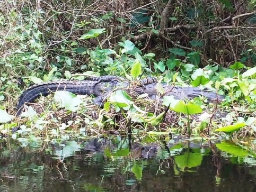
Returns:
[[[245,151],[243,148],[236,145],[235,143],[227,143],[227,142],[216,143],[216,147],[219,150],[230,153],[235,157],[237,157],[237,156],[238,157],[245,157],[249,153],[248,151]]]

